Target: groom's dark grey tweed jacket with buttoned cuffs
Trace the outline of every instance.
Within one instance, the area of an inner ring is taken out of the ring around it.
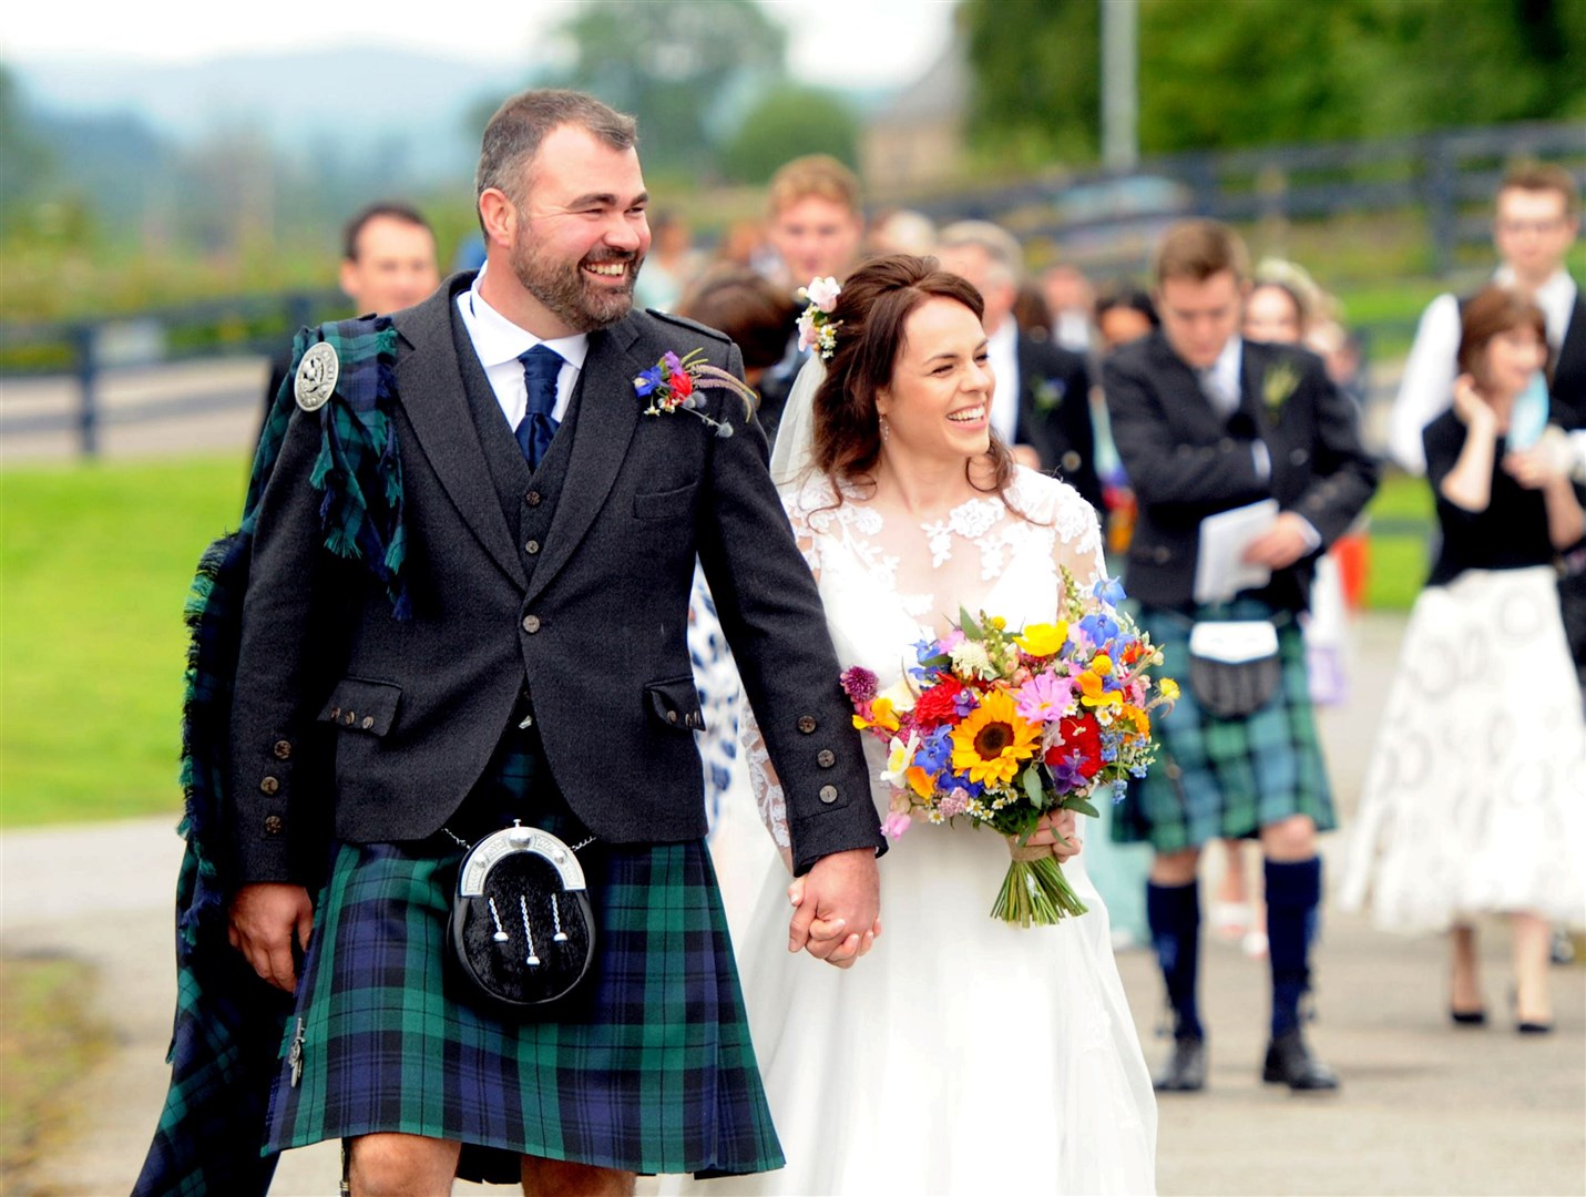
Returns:
[[[736,346],[634,312],[590,336],[566,471],[542,534],[534,479],[503,504],[469,412],[484,381],[458,336],[458,274],[398,312],[393,426],[404,485],[409,620],[324,549],[309,472],[319,420],[295,414],[259,512],[232,718],[230,847],[239,881],[303,878],[333,810],[347,842],[436,832],[484,774],[525,686],[557,786],[611,843],[706,832],[699,702],[685,629],[695,556],[787,791],[795,862],[880,848],[869,778],[820,598],[730,392],[736,434],[642,415],[633,379]],[[504,422],[503,422],[504,426]],[[527,468],[525,468],[525,477]],[[549,504],[547,504],[549,506]],[[333,766],[306,748],[333,734]],[[300,751],[300,748],[303,748]]]

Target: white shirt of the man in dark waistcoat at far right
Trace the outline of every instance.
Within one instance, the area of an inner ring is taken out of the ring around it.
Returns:
[[[1492,276],[1500,287],[1515,285],[1515,271],[1504,266]],[[1575,279],[1557,270],[1537,290],[1537,306],[1548,325],[1548,344],[1559,352],[1570,328],[1570,312],[1575,311]],[[1404,363],[1399,382],[1399,398],[1393,404],[1388,430],[1388,449],[1400,466],[1413,474],[1426,472],[1426,447],[1421,431],[1448,411],[1454,396],[1454,379],[1459,376],[1459,300],[1454,295],[1439,295],[1421,314],[1415,330],[1415,346]]]

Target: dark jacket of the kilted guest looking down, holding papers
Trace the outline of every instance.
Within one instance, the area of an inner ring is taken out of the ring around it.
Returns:
[[[1240,404],[1223,419],[1161,330],[1123,346],[1102,366],[1118,457],[1140,504],[1124,588],[1144,604],[1190,610],[1201,520],[1274,498],[1332,544],[1377,488],[1354,404],[1321,358],[1294,346],[1243,344]],[[1251,446],[1270,457],[1262,477]],[[1304,610],[1315,553],[1275,571],[1261,591]]]

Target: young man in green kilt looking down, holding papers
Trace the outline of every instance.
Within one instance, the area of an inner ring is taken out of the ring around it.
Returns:
[[[1354,406],[1318,357],[1240,339],[1247,262],[1224,225],[1174,225],[1155,263],[1161,328],[1102,368],[1113,439],[1139,501],[1124,587],[1164,652],[1164,672],[1190,682],[1158,721],[1156,764],[1113,823],[1115,839],[1150,842],[1156,853],[1147,916],[1174,1015],[1174,1050],[1155,1078],[1161,1091],[1205,1086],[1196,870],[1202,845],[1218,837],[1258,839],[1264,856],[1272,1026],[1262,1080],[1337,1088],[1301,1027],[1321,904],[1316,832],[1335,820],[1297,617],[1316,558],[1366,506],[1377,466],[1361,447]],[[1275,501],[1278,514],[1242,553],[1266,580],[1221,588],[1212,579],[1197,598],[1201,522],[1259,501]],[[1213,621],[1237,625],[1259,652],[1191,666],[1196,625]]]

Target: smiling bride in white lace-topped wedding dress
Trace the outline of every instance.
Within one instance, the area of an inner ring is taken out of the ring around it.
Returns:
[[[933,266],[895,255],[850,277],[831,377],[796,414],[795,395],[779,441],[837,656],[883,688],[960,606],[1010,628],[1050,623],[1059,566],[1085,587],[1102,576],[1090,504],[988,439],[979,295]],[[879,774],[882,745],[868,739],[866,753]],[[755,745],[750,775],[785,848],[782,794]],[[874,797],[885,815],[888,786]],[[1058,926],[990,918],[1007,866],[1001,836],[915,823],[880,864],[882,934],[845,970],[788,954],[798,881],[772,867],[734,931],[747,927],[737,959],[788,1167],[690,1192],[1155,1191],[1151,1081],[1083,855],[1063,869],[1090,913]]]

